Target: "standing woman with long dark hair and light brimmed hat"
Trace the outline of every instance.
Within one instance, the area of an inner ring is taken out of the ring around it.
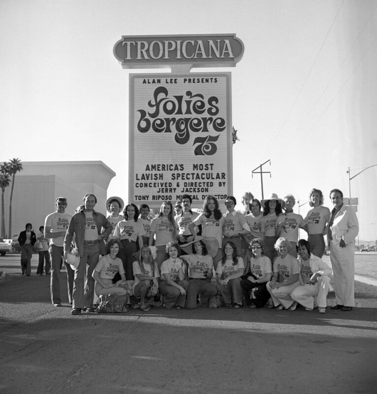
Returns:
[[[274,247],[278,239],[275,230],[279,223],[278,218],[283,212],[283,200],[276,193],[272,193],[269,197],[261,200],[260,204],[263,207],[260,238],[264,243],[266,256],[273,262],[274,258],[278,256]]]

